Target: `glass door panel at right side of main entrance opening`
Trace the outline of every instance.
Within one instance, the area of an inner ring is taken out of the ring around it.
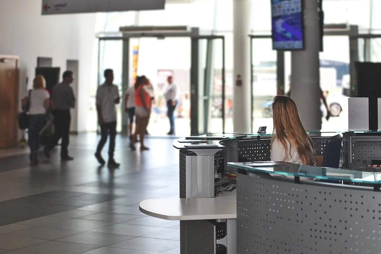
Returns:
[[[191,135],[225,132],[224,36],[191,38]]]

